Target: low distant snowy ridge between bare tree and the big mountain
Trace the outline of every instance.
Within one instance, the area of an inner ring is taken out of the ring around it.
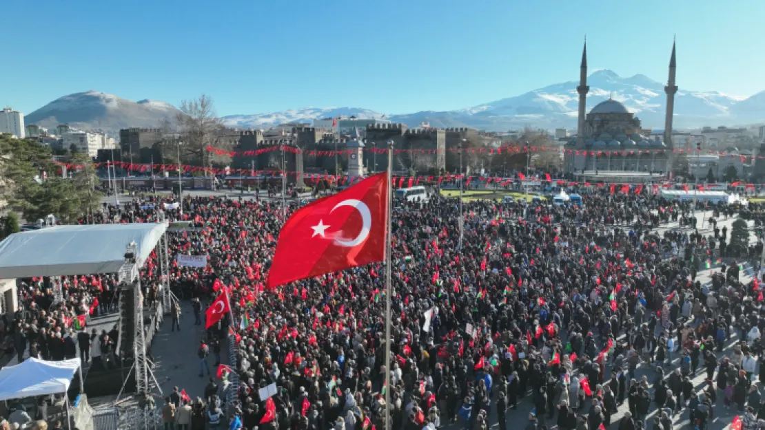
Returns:
[[[312,124],[314,119],[322,118],[380,118],[382,114],[364,108],[301,108],[283,112],[272,112],[255,115],[224,116],[223,124],[235,128],[269,128],[278,124],[300,123]]]

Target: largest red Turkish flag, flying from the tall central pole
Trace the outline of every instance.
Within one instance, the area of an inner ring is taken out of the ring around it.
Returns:
[[[282,227],[267,288],[385,258],[387,173],[298,209]]]

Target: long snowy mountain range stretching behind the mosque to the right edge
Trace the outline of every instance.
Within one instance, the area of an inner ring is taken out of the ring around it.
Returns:
[[[422,111],[411,114],[386,115],[386,119],[415,127],[428,122],[434,127],[472,127],[485,130],[507,130],[531,125],[541,128],[575,127],[579,82],[569,81],[545,86],[507,99],[496,100],[457,111]],[[643,121],[645,127],[664,125],[666,94],[664,84],[645,75],[621,77],[611,70],[598,70],[588,77],[590,92],[587,110],[609,98],[622,102]],[[675,95],[675,127],[695,128],[703,125],[733,125],[765,121],[765,92],[744,99],[721,92],[699,92],[679,89]],[[314,118],[356,115],[380,118],[376,112],[360,108],[304,108],[286,112],[256,115],[231,115],[227,124],[239,127],[264,128],[285,122],[311,122]]]

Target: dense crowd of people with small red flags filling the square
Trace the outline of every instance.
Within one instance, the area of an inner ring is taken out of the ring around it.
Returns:
[[[160,203],[139,197],[83,222],[151,222]],[[738,209],[718,211],[722,219]],[[744,283],[738,263],[727,261],[702,284],[695,256],[724,239],[693,228],[656,233],[669,222],[692,226],[691,203],[604,190],[583,205],[476,201],[464,213],[458,247],[456,199],[432,192],[427,202],[396,202],[386,297],[382,264],[265,290],[281,201],[184,199],[194,228],[168,235],[170,254],[207,255],[208,265],[173,264],[171,288],[190,299],[182,306],[200,324],[226,289],[233,320],[213,325],[200,343],[204,393],[164,399],[168,427],[382,430],[389,391],[394,430],[503,430],[519,419],[529,430],[672,430],[679,413],[703,429],[718,418],[718,403],[732,409],[724,419],[740,415],[746,430],[765,428],[760,283]],[[147,300],[158,291],[157,267],[152,256],[142,268]],[[99,294],[114,291],[109,276],[97,281],[106,288],[80,281],[65,290],[75,314],[89,313],[93,298],[103,306]],[[37,328],[67,321],[26,312],[21,321]],[[236,364],[219,368],[229,341]],[[532,412],[519,415],[525,403]]]

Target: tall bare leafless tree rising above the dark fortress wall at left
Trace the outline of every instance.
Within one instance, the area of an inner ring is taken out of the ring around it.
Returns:
[[[194,160],[205,163],[207,145],[216,141],[216,132],[223,128],[223,123],[215,111],[215,104],[209,95],[200,95],[198,99],[181,102],[175,122],[181,146],[181,160]],[[169,149],[169,148],[166,148]]]

